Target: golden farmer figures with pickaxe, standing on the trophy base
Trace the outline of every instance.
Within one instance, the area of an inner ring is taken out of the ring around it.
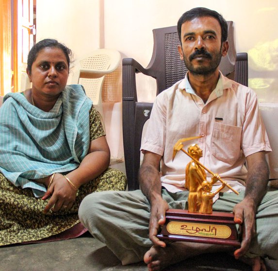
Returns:
[[[238,192],[230,187],[226,181],[221,180],[218,174],[214,174],[211,170],[199,162],[200,157],[203,156],[203,151],[197,144],[190,145],[187,151],[183,149],[182,142],[200,137],[201,136],[193,136],[180,139],[174,146],[173,160],[177,152],[180,150],[192,158],[192,160],[187,164],[185,170],[185,188],[189,191],[188,211],[208,214],[213,212],[213,197],[218,194],[225,186],[229,187],[229,189],[231,189],[237,195]],[[213,175],[211,181],[207,181],[205,170]],[[221,181],[222,186],[216,191],[211,192],[213,184],[216,181]]]

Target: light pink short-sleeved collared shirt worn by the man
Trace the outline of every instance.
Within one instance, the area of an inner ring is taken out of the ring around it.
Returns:
[[[245,157],[271,151],[255,92],[221,73],[206,104],[187,76],[155,99],[141,150],[163,156],[161,181],[170,192],[184,190],[185,168],[191,160],[179,151],[172,161],[173,147],[180,138],[197,135],[202,137],[184,142],[183,149],[198,144],[203,150],[200,162],[237,191],[245,187]],[[207,173],[207,177],[212,176]]]

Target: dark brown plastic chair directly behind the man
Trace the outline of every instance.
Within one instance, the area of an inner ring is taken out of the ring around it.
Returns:
[[[139,188],[138,170],[140,167],[140,145],[145,122],[149,119],[152,103],[137,101],[136,73],[152,76],[157,82],[157,94],[184,78],[187,71],[180,60],[180,44],[177,27],[165,27],[153,30],[154,46],[147,68],[136,60],[123,59],[123,140],[128,189]],[[220,71],[247,86],[248,63],[246,53],[236,53],[233,38],[233,22],[228,21],[229,50],[222,58]],[[147,111],[149,110],[149,111]]]

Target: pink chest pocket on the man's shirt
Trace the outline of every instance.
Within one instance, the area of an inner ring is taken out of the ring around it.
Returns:
[[[241,133],[242,127],[214,122],[211,144],[213,156],[233,165],[241,157]]]

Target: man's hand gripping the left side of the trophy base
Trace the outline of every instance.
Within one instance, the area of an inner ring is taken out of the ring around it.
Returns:
[[[165,247],[164,241],[160,241],[156,235],[160,231],[160,227],[165,224],[165,212],[169,209],[167,202],[161,197],[152,201],[151,212],[149,218],[149,239],[161,247]]]

